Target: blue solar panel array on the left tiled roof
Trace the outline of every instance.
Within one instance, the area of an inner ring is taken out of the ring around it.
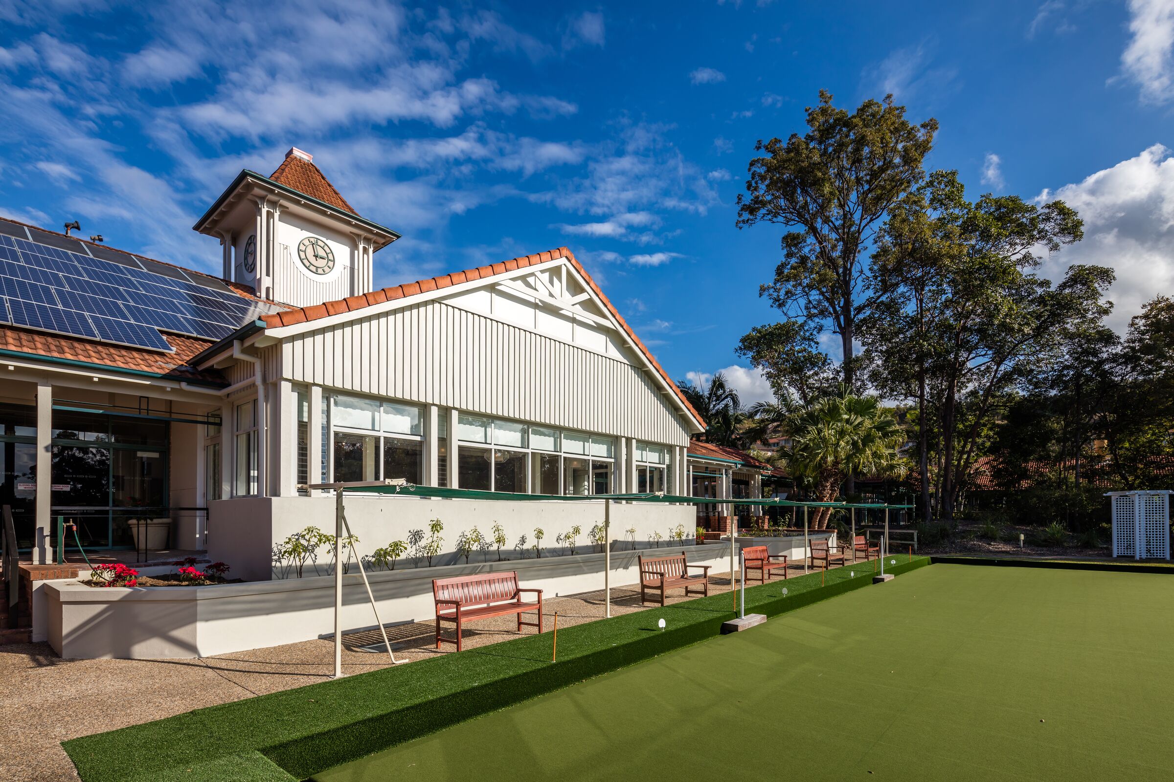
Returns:
[[[170,352],[161,331],[220,340],[275,311],[214,278],[109,247],[95,258],[65,249],[86,250],[79,242],[45,237],[56,246],[0,232],[0,322]]]

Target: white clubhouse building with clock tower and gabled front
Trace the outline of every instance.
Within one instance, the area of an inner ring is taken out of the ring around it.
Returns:
[[[144,548],[135,519],[157,518],[166,548],[207,548],[234,574],[268,578],[276,542],[331,523],[332,501],[299,490],[319,481],[691,492],[702,421],[567,249],[375,290],[373,254],[398,234],[297,149],[268,177],[242,171],[195,230],[220,240],[223,280],[129,253],[115,263],[241,297],[249,317],[218,340],[164,328],[170,351],[115,345],[31,327],[13,301],[0,319],[0,503],[27,559],[54,560],[58,517],[77,521],[89,551]],[[0,268],[13,280],[46,247],[60,263],[123,256],[9,220],[0,239],[23,253]],[[733,469],[707,458],[709,476]],[[729,497],[723,481],[710,480]],[[574,514],[598,516],[573,505],[363,497],[352,525],[366,551],[431,518],[450,543],[497,521],[510,545],[544,523],[553,544]],[[691,532],[695,515],[629,505],[614,523],[647,540]]]

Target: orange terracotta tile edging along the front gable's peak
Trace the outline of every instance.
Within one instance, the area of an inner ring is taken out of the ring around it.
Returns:
[[[477,268],[466,268],[463,272],[452,272],[450,274],[443,274],[440,277],[433,277],[426,280],[417,280],[416,283],[405,283],[404,285],[394,285],[392,287],[385,287],[379,291],[372,291],[371,293],[364,293],[362,295],[352,295],[348,299],[340,299],[338,301],[326,301],[325,304],[315,305],[312,307],[302,307],[295,310],[286,310],[285,312],[274,313],[271,315],[264,315],[265,326],[268,328],[279,328],[282,326],[294,326],[296,324],[304,324],[310,320],[318,320],[319,318],[328,318],[330,315],[337,315],[345,312],[355,312],[356,310],[362,310],[364,307],[370,307],[376,304],[384,301],[391,301],[394,299],[403,299],[410,295],[417,295],[419,293],[427,293],[439,288],[451,287],[453,285],[460,285],[461,283],[470,283],[473,280],[485,279],[487,277],[493,277],[494,274],[502,274],[505,272],[517,271],[519,268],[525,268],[527,266],[537,266],[538,264],[544,264],[548,260],[555,260],[559,258],[565,258],[571,261],[575,271],[582,276],[586,280],[588,287],[592,292],[599,297],[600,301],[607,311],[619,321],[620,326],[623,328],[625,333],[632,339],[633,344],[640,348],[648,362],[655,367],[656,372],[660,373],[664,382],[669,385],[673,393],[680,400],[681,404],[694,417],[696,423],[704,427],[704,422],[697,414],[693,406],[689,404],[689,400],[684,397],[684,394],[676,387],[673,379],[668,376],[664,368],[660,366],[660,362],[653,358],[652,352],[640,341],[636,333],[632,331],[623,317],[616,311],[603,291],[595,285],[595,280],[591,278],[587,270],[575,259],[574,254],[566,247],[558,247],[555,250],[547,250],[546,252],[535,253],[533,256],[521,256],[519,258],[511,258],[510,260],[492,264],[488,266],[478,266]]]

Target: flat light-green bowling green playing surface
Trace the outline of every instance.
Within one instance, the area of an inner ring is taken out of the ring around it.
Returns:
[[[936,564],[318,774],[1174,778],[1174,578]]]

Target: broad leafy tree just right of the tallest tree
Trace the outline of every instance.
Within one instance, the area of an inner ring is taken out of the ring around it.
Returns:
[[[970,203],[952,171],[904,198],[879,237],[873,280],[891,295],[862,331],[870,379],[885,395],[917,399],[922,501],[936,474],[946,518],[1008,395],[1054,366],[1066,333],[1104,317],[1109,270],[1073,266],[1055,287],[1033,273],[1040,250],[1081,237],[1080,218],[1062,202],[985,195]]]

